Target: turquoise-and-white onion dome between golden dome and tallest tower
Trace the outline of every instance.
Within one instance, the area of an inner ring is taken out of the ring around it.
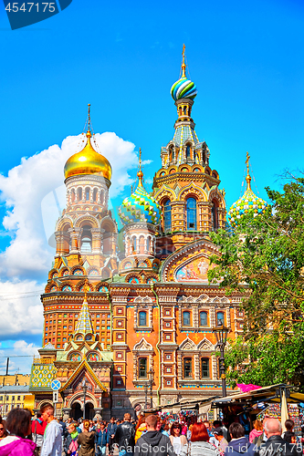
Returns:
[[[142,150],[140,149],[140,171],[137,173],[139,184],[135,192],[125,198],[119,208],[123,224],[147,222],[158,224],[161,220],[161,206],[145,191],[142,185]]]

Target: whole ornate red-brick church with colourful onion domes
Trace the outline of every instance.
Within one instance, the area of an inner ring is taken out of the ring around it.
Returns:
[[[119,209],[121,233],[108,209],[110,162],[89,115],[86,145],[65,165],[67,208],[41,296],[44,346],[30,379],[36,409],[51,401],[52,378],[61,383],[58,414],[75,418],[83,414],[84,380],[88,418],[106,420],[142,409],[150,381],[153,406],[220,394],[212,328],[225,324],[231,338],[242,332],[242,296],[227,298],[207,280],[209,257],[217,254],[209,234],[225,227],[225,191],[194,130],[196,94],[183,51],[182,78],[171,89],[173,139],[161,149],[152,194],[144,188],[140,150],[137,188]],[[250,181],[247,167],[232,224],[265,211]]]

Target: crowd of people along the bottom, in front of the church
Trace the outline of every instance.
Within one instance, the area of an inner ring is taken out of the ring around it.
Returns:
[[[194,417],[193,417],[194,418]],[[28,409],[12,409],[0,417],[0,456],[303,456],[302,439],[292,420],[282,434],[279,420],[254,421],[248,438],[239,422],[225,427],[215,420],[168,420],[158,415],[122,421],[67,421],[46,405],[32,419]]]

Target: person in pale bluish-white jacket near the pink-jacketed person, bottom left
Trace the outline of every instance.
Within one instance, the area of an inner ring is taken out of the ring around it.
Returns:
[[[42,420],[47,421],[41,456],[61,456],[62,428],[54,417],[54,407],[51,404],[44,405],[41,407],[40,412]]]

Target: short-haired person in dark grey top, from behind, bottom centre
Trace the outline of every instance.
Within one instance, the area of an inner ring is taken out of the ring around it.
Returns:
[[[166,435],[157,430],[158,418],[149,415],[146,420],[147,432],[142,434],[135,445],[135,456],[175,456],[173,445]]]

